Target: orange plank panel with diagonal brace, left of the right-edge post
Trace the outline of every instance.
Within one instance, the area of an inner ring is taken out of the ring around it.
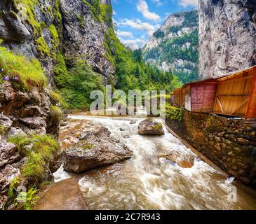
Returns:
[[[227,80],[220,80],[214,113],[245,116],[254,80],[251,71],[239,73],[237,76]]]

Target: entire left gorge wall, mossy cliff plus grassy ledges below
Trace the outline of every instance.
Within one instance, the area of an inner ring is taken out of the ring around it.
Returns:
[[[19,184],[32,190],[60,165],[59,55],[62,67],[86,60],[103,81],[114,73],[108,13],[90,0],[0,1],[0,209],[10,209]]]

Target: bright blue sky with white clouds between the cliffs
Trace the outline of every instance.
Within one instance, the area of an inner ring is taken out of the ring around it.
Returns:
[[[143,46],[172,13],[197,8],[198,0],[112,0],[118,36],[130,48]]]

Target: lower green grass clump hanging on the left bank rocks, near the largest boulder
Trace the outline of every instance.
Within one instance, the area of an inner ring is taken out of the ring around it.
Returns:
[[[14,136],[8,139],[9,142],[17,146],[20,156],[27,158],[25,165],[21,169],[21,174],[13,179],[8,190],[10,203],[15,209],[31,210],[38,197],[37,186],[44,181],[48,181],[49,166],[54,161],[55,154],[60,150],[60,145],[50,135],[35,136]],[[18,203],[18,186],[25,185],[28,190],[25,193],[27,201]]]

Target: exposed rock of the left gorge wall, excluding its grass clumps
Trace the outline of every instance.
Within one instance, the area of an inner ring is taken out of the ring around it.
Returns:
[[[111,7],[106,10],[97,5],[96,8],[95,3],[90,0],[0,0],[0,43],[1,39],[4,41],[0,53],[7,49],[13,50],[13,55],[38,59],[49,80],[49,86],[46,83],[36,86],[30,80],[29,91],[13,85],[10,77],[18,78],[19,74],[15,69],[14,74],[7,72],[8,65],[3,69],[6,57],[0,55],[3,63],[0,63],[0,209],[9,200],[10,184],[20,176],[27,162],[6,139],[26,134],[58,137],[61,114],[56,109],[58,99],[51,90],[58,55],[65,56],[69,68],[76,59],[85,59],[103,80],[114,73],[114,65],[107,59],[109,49],[105,41],[107,30],[112,29]],[[111,1],[104,4],[109,6]],[[99,12],[105,14],[99,15]],[[109,20],[105,21],[106,18]],[[12,64],[13,61],[9,61]],[[28,65],[24,63],[24,66]],[[54,163],[56,161],[54,159]],[[54,169],[55,164],[49,166],[46,180],[51,179]]]

